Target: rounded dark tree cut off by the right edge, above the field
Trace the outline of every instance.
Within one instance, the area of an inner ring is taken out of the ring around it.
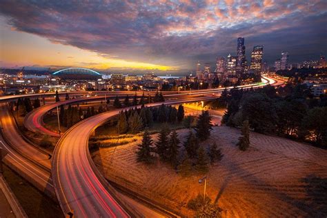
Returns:
[[[327,107],[313,108],[302,121],[302,128],[315,139],[315,143],[327,146]]]

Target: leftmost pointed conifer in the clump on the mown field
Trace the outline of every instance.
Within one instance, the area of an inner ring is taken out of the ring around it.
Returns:
[[[137,161],[139,162],[145,162],[147,164],[150,164],[153,160],[153,157],[151,155],[152,152],[152,139],[150,137],[150,133],[148,130],[144,131],[142,143],[139,144],[138,150],[137,150]]]

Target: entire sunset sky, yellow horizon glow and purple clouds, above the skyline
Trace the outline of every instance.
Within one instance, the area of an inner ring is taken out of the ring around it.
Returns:
[[[264,46],[273,64],[319,59],[327,50],[327,1],[0,1],[0,67],[104,71],[195,70]]]

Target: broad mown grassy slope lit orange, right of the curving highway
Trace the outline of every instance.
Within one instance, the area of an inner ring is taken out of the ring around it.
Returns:
[[[188,131],[178,132],[184,141]],[[223,210],[223,217],[326,217],[327,150],[251,132],[251,146],[242,152],[235,146],[239,135],[234,128],[214,127],[202,143],[216,141],[224,154],[206,174],[207,195]],[[140,140],[99,148],[93,160],[109,180],[191,216],[186,204],[203,192],[198,179],[204,175],[181,177],[159,160],[137,163]]]

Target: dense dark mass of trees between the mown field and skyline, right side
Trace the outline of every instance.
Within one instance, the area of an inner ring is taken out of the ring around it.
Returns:
[[[227,126],[242,126],[248,120],[255,132],[327,146],[327,97],[313,97],[306,85],[224,90],[216,103],[227,108],[221,121]]]

